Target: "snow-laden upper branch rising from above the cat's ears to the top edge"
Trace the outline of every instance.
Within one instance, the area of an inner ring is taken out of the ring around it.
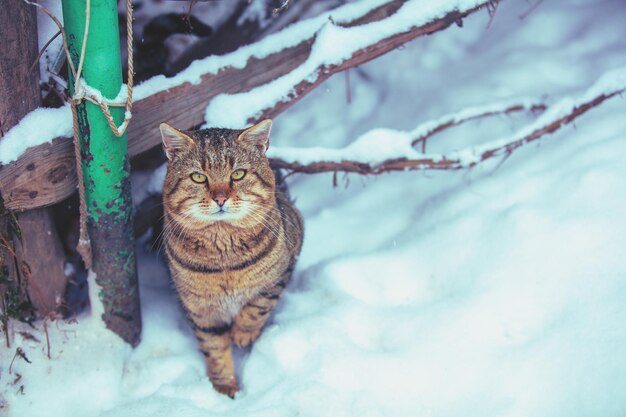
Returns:
[[[432,34],[494,1],[422,2],[393,0],[359,18],[329,14],[307,40],[297,66],[271,82],[240,93],[215,96],[206,109],[211,126],[243,127],[274,117],[331,75],[358,66],[423,35]],[[230,111],[225,112],[224,109]]]

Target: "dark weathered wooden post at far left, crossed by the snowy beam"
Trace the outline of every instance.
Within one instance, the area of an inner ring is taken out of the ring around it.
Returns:
[[[22,1],[5,6],[0,7],[0,140],[40,103],[39,67],[30,69],[38,53],[36,9]],[[29,294],[41,318],[55,309],[65,291],[65,256],[49,209],[30,210],[17,217],[23,244],[13,243],[30,267]],[[0,230],[5,229],[2,226]],[[6,261],[9,257],[5,253],[0,258]]]

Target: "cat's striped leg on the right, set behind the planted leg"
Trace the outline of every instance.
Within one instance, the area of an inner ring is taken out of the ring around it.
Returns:
[[[244,305],[235,319],[230,334],[237,347],[249,346],[258,339],[261,329],[267,321],[270,312],[278,304],[280,294],[285,289],[291,274],[285,275],[277,284],[261,291],[246,305]]]

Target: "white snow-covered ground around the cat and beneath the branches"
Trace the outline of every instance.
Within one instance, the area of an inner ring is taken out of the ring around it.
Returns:
[[[469,106],[556,100],[626,65],[623,0],[544,1],[520,19],[534,3],[503,1],[489,29],[483,12],[351,71],[350,104],[335,76],[275,121],[272,144],[338,148]],[[0,352],[0,413],[624,416],[625,115],[612,99],[471,171],[339,175],[336,188],[290,177],[302,256],[261,338],[236,352],[234,400],[211,388],[163,259],[140,243],[141,344],[87,313],[49,325],[52,359],[41,331],[16,333]],[[428,150],[530,120],[472,123]],[[9,369],[17,346],[32,363]]]

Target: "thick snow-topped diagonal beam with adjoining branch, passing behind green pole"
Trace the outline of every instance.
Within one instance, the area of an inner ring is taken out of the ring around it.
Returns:
[[[332,74],[460,24],[492,1],[351,2],[233,53],[196,61],[175,77],[153,77],[134,89],[129,153],[157,146],[164,121],[189,129],[206,116],[224,127],[275,117]],[[76,175],[68,163],[73,161],[71,112],[65,107],[54,117],[41,114],[47,112],[27,116],[21,133],[10,131],[0,141],[0,187],[8,208],[42,207],[75,192]],[[51,122],[44,125],[39,116]],[[32,148],[22,155],[28,146]]]

